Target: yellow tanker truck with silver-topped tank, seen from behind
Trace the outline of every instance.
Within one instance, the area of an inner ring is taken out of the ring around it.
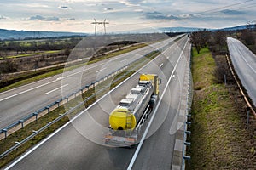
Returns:
[[[152,109],[158,99],[159,84],[160,79],[157,75],[142,74],[140,76],[137,86],[131,88],[125,99],[122,99],[111,112],[110,133],[105,136],[106,143],[131,144],[137,140],[137,134],[135,134],[137,127],[143,124],[149,114],[148,108]],[[124,133],[120,133],[122,130]],[[134,139],[135,136],[136,139]]]

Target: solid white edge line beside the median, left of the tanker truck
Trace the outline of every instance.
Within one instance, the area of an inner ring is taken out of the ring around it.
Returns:
[[[173,45],[173,44],[172,44]],[[171,46],[172,47],[172,46]],[[171,48],[170,47],[170,48]],[[168,48],[167,48],[168,49]],[[167,50],[166,49],[166,50]],[[161,55],[161,54],[160,54]],[[137,72],[143,70],[143,68],[145,68],[146,66],[148,66],[151,62],[153,62],[155,59],[157,59],[160,55],[158,55],[157,57],[155,57],[154,59],[150,60],[148,62],[147,65],[144,65],[142,68],[140,68],[139,70],[137,70]],[[69,125],[71,122],[73,122],[75,119],[77,119],[79,116],[81,116],[82,114],[84,114],[85,111],[88,111],[92,106],[96,105],[100,100],[102,100],[104,97],[106,97],[108,94],[112,93],[113,90],[115,90],[116,88],[119,88],[119,86],[121,86],[124,82],[128,81],[131,77],[133,77],[134,75],[137,74],[137,72],[133,73],[130,77],[126,78],[123,82],[119,83],[119,85],[117,85],[116,87],[114,87],[112,90],[110,90],[107,94],[104,94],[100,99],[96,100],[96,102],[94,102],[92,105],[90,105],[89,107],[87,107],[84,111],[81,111],[79,113],[79,115],[74,116],[73,119],[71,119],[69,122],[67,122],[66,124],[64,124],[62,127],[58,128],[54,133],[51,133],[49,135],[49,137],[47,137],[46,139],[44,139],[42,142],[40,142],[39,144],[35,145],[31,150],[28,150],[23,156],[20,156],[20,158],[18,158],[16,161],[14,161],[13,163],[11,163],[8,167],[6,167],[6,170],[9,170],[10,168],[14,167],[18,162],[20,162],[22,159],[24,159],[26,156],[28,156],[29,154],[32,153],[32,151],[37,150],[38,147],[40,147],[42,144],[44,144],[45,142],[47,142],[49,139],[51,139],[56,133],[59,133],[63,128],[67,127],[67,125]]]

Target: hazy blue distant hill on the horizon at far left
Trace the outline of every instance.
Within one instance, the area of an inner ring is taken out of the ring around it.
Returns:
[[[87,36],[85,33],[77,32],[61,32],[61,31],[16,31],[0,29],[0,39],[28,39],[28,38],[43,38],[43,37],[73,37]]]

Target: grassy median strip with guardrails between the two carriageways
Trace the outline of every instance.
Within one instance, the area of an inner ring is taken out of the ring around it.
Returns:
[[[148,54],[148,56],[146,56],[146,57],[148,59],[154,59],[159,54],[160,54],[160,52],[153,52],[152,54]],[[113,80],[108,79],[105,82],[102,82],[99,85],[97,85],[97,86],[100,86],[100,87],[106,87],[106,86],[108,86],[109,83],[111,83],[110,88],[106,88],[106,90],[102,91],[101,94],[97,94],[97,98],[101,97],[103,94],[108,93],[108,91],[110,89],[117,86],[120,82],[124,81],[127,77],[130,77],[135,71],[137,71],[139,68],[142,67],[142,65],[145,65],[145,64],[146,64],[145,59],[139,59],[136,63],[131,65],[131,67],[133,67],[132,71],[130,71],[131,68],[128,68],[125,71],[119,73],[117,76],[115,76]],[[123,77],[124,75],[125,75],[125,77]],[[122,78],[119,79],[119,77],[122,77]],[[119,80],[115,81],[117,79],[119,79]],[[112,82],[109,82],[109,81],[112,81]],[[90,97],[93,94],[95,94],[95,88],[90,88],[88,91],[86,91],[84,94],[82,94],[82,98],[87,99],[88,97]],[[40,117],[38,119],[38,121],[35,121],[35,122],[32,122],[32,123],[26,125],[25,127],[16,131],[15,133],[10,134],[7,137],[7,139],[1,140],[0,141],[0,153],[3,153],[3,151],[12,147],[15,144],[15,142],[19,142],[23,139],[26,139],[27,136],[32,134],[33,130],[38,130],[39,128],[46,125],[47,122],[51,122],[51,121],[55,120],[58,116],[60,116],[60,114],[63,114],[63,113],[66,112],[65,108],[74,107],[74,106],[78,105],[78,102],[79,102],[78,99],[79,98],[75,98],[75,99],[70,100],[65,105],[65,107],[64,107],[64,105],[61,105],[60,107],[56,108],[55,110],[50,111],[49,114],[46,114],[46,115]],[[69,121],[69,118],[75,116],[80,111],[82,111],[84,109],[84,106],[87,107],[87,106],[91,105],[92,103],[94,103],[95,101],[96,101],[96,97],[91,98],[86,103],[84,103],[84,105],[81,105],[75,111],[70,113],[70,115],[64,116],[61,119],[61,121],[56,122],[52,126],[48,127],[46,130],[44,130],[42,133],[39,133],[36,137],[34,137],[30,141],[26,142],[26,144],[22,144],[18,149],[9,153],[8,156],[3,157],[0,160],[0,167],[5,166],[7,163],[9,163],[9,161],[14,160],[15,157],[20,156],[26,150],[31,148],[34,144],[37,144],[42,139],[46,138],[50,133],[53,133],[56,129],[63,126],[65,123],[67,123]]]

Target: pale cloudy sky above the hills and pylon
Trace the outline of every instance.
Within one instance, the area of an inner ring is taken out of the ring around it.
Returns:
[[[256,0],[0,0],[0,28],[92,33],[256,23]],[[97,25],[97,32],[104,32]]]

